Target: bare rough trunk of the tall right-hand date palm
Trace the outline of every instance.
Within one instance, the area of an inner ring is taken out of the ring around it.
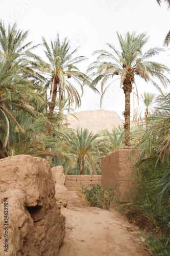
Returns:
[[[124,129],[125,129],[125,146],[130,146],[130,115],[131,115],[131,102],[130,102],[130,91],[125,91],[125,111],[124,111],[124,117],[125,117],[125,123],[124,123]]]

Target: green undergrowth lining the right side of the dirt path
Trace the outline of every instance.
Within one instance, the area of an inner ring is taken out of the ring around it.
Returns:
[[[116,199],[116,187],[102,189],[100,185],[91,185],[91,189],[87,189],[82,186],[81,193],[89,206],[119,212],[131,224],[138,226],[139,238],[151,255],[166,256],[170,254],[170,191],[163,195],[160,203],[162,187],[157,184],[169,175],[169,169],[167,159],[155,168],[156,160],[157,156],[154,156],[134,166],[127,181],[131,188],[121,202]]]

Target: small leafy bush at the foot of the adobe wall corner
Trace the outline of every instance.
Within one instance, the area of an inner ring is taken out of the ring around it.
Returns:
[[[82,186],[82,192],[83,194],[85,194],[89,205],[92,207],[109,209],[116,198],[114,193],[116,186],[109,189],[102,189],[99,184],[97,184],[96,186],[94,184],[90,184],[90,186],[92,186],[91,189],[87,189],[87,187],[84,188],[84,185]]]

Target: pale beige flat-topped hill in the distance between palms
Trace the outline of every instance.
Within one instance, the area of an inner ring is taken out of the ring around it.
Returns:
[[[67,115],[68,123],[70,123],[68,127],[72,129],[77,129],[77,127],[87,128],[93,133],[98,133],[102,129],[111,131],[113,125],[117,127],[125,122],[115,111],[107,110],[81,111],[77,112],[76,116],[79,121],[70,114]]]

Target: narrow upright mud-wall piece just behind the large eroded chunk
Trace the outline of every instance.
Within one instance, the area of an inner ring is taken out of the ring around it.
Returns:
[[[55,181],[55,198],[62,206],[66,207],[68,202],[68,190],[64,186],[65,175],[63,166],[55,166],[52,168],[53,180]]]

